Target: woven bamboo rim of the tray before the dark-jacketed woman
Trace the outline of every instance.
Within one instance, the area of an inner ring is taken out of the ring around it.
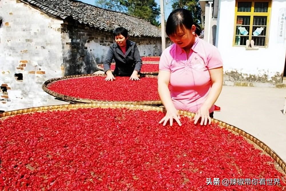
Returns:
[[[75,76],[64,76],[61,78],[52,78],[47,80],[43,86],[42,89],[47,92],[48,94],[57,97],[60,100],[68,101],[70,103],[113,103],[113,104],[134,104],[134,105],[162,105],[162,102],[160,100],[155,101],[106,101],[106,100],[96,100],[96,99],[81,99],[77,97],[67,96],[63,94],[59,94],[57,92],[54,92],[52,90],[49,90],[48,85],[52,82],[58,81],[58,80],[66,80],[69,78],[81,78],[81,77],[91,77],[91,76],[105,76],[105,74],[82,74],[82,75],[75,75]],[[142,74],[140,77],[148,77],[148,78],[157,78],[157,76],[154,75],[146,75]]]

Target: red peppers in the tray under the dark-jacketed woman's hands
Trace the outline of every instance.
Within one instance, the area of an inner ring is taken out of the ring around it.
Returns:
[[[116,76],[106,82],[104,76],[68,78],[48,85],[48,89],[59,94],[103,101],[160,101],[157,78],[143,77],[138,81],[130,77]]]

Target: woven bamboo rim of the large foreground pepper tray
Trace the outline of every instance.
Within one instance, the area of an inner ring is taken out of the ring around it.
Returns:
[[[112,108],[112,109],[120,109],[120,108],[126,108],[126,109],[141,109],[143,111],[160,111],[163,112],[165,109],[162,107],[154,107],[150,105],[126,105],[126,104],[114,104],[114,103],[90,103],[90,104],[69,104],[69,105],[54,105],[54,106],[44,106],[44,107],[34,107],[34,108],[28,108],[28,109],[20,109],[15,111],[8,111],[4,113],[0,113],[0,119],[5,119],[14,115],[24,114],[24,113],[33,113],[33,112],[41,112],[41,111],[47,111],[47,110],[68,110],[68,109],[78,109],[78,108]],[[194,118],[195,114],[190,113],[187,111],[179,111],[180,115],[189,117],[191,119]],[[265,143],[257,139],[256,137],[253,137],[252,135],[246,133],[245,131],[233,126],[229,125],[223,121],[217,120],[217,119],[211,119],[212,123],[217,123],[221,128],[225,128],[229,131],[231,131],[234,134],[238,134],[243,136],[249,143],[255,146],[255,148],[260,149],[264,151],[267,155],[269,155],[277,164],[279,165],[280,172],[286,174],[286,163],[273,151],[271,148],[269,148]]]

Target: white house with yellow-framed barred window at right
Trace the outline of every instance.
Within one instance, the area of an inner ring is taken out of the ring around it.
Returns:
[[[206,18],[213,21],[217,14],[215,45],[224,61],[225,81],[281,83],[286,54],[286,1],[218,0],[217,5],[218,9],[205,11],[205,28],[209,21]],[[208,27],[206,30],[205,39]]]

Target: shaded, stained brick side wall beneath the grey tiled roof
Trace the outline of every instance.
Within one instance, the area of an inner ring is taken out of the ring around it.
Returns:
[[[99,31],[72,21],[62,25],[62,32],[68,34],[62,39],[65,76],[96,72],[98,70],[96,64],[104,62],[109,46],[114,43],[112,32]],[[69,36],[69,39],[66,36]],[[161,38],[129,37],[129,39],[137,43],[141,56],[162,54]],[[170,40],[167,40],[167,45],[170,44]]]

